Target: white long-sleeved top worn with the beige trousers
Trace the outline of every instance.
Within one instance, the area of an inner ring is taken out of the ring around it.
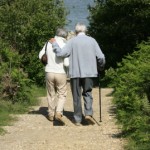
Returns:
[[[66,39],[62,37],[55,36],[55,40],[60,48],[63,48],[66,44]],[[45,53],[45,46],[46,44],[39,52],[39,59],[41,59],[43,54]],[[48,42],[47,44],[46,54],[48,57],[48,63],[45,66],[45,72],[65,73],[64,66],[69,66],[69,58],[57,57],[53,52],[52,44],[50,42]]]

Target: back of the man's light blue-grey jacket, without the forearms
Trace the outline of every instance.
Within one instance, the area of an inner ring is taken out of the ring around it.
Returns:
[[[70,77],[96,77],[96,57],[100,55],[100,48],[97,45],[97,42],[92,37],[79,33],[70,41],[70,43],[67,43],[67,45],[68,44],[68,48],[71,49],[71,67],[69,68]]]

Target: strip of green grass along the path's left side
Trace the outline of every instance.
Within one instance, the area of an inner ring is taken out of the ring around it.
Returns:
[[[29,110],[31,106],[38,105],[38,97],[45,96],[45,89],[32,86],[30,103],[15,103],[12,104],[9,101],[0,100],[0,135],[6,133],[4,126],[11,125],[16,118],[11,114],[23,114]]]

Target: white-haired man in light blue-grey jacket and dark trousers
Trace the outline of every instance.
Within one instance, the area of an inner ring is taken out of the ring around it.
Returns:
[[[97,65],[100,68],[105,65],[105,56],[98,43],[94,38],[87,36],[86,31],[86,26],[78,23],[75,26],[76,36],[70,39],[62,49],[55,39],[50,40],[57,56],[69,56],[69,76],[71,78],[75,125],[81,125],[82,122],[81,89],[85,119],[89,124],[95,124],[92,117],[93,78],[98,75]]]

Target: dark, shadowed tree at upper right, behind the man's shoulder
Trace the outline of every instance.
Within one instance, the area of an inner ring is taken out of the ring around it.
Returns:
[[[96,0],[89,21],[89,33],[106,56],[106,68],[114,68],[150,36],[150,0]]]

